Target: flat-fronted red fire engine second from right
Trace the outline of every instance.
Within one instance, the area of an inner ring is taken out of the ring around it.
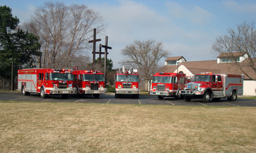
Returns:
[[[183,73],[156,73],[153,75],[150,95],[158,95],[158,99],[175,97],[182,99],[179,91],[184,90],[186,75]]]

